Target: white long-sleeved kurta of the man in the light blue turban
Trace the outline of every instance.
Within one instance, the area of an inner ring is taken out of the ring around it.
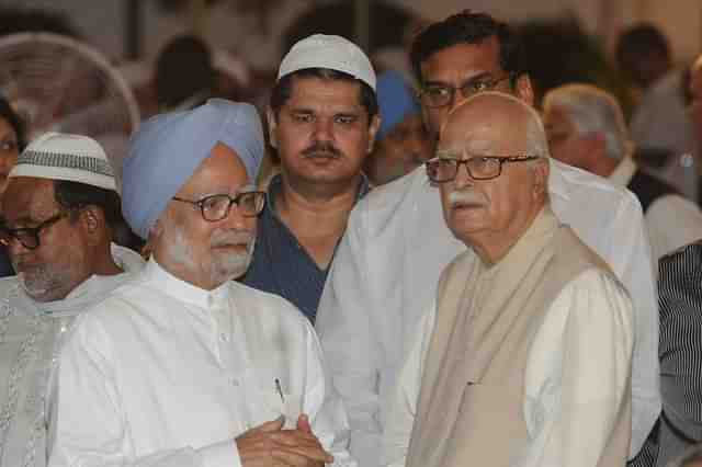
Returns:
[[[355,465],[303,315],[239,283],[197,288],[151,260],[68,339],[49,465],[236,467],[236,436],[301,412],[335,466]]]

